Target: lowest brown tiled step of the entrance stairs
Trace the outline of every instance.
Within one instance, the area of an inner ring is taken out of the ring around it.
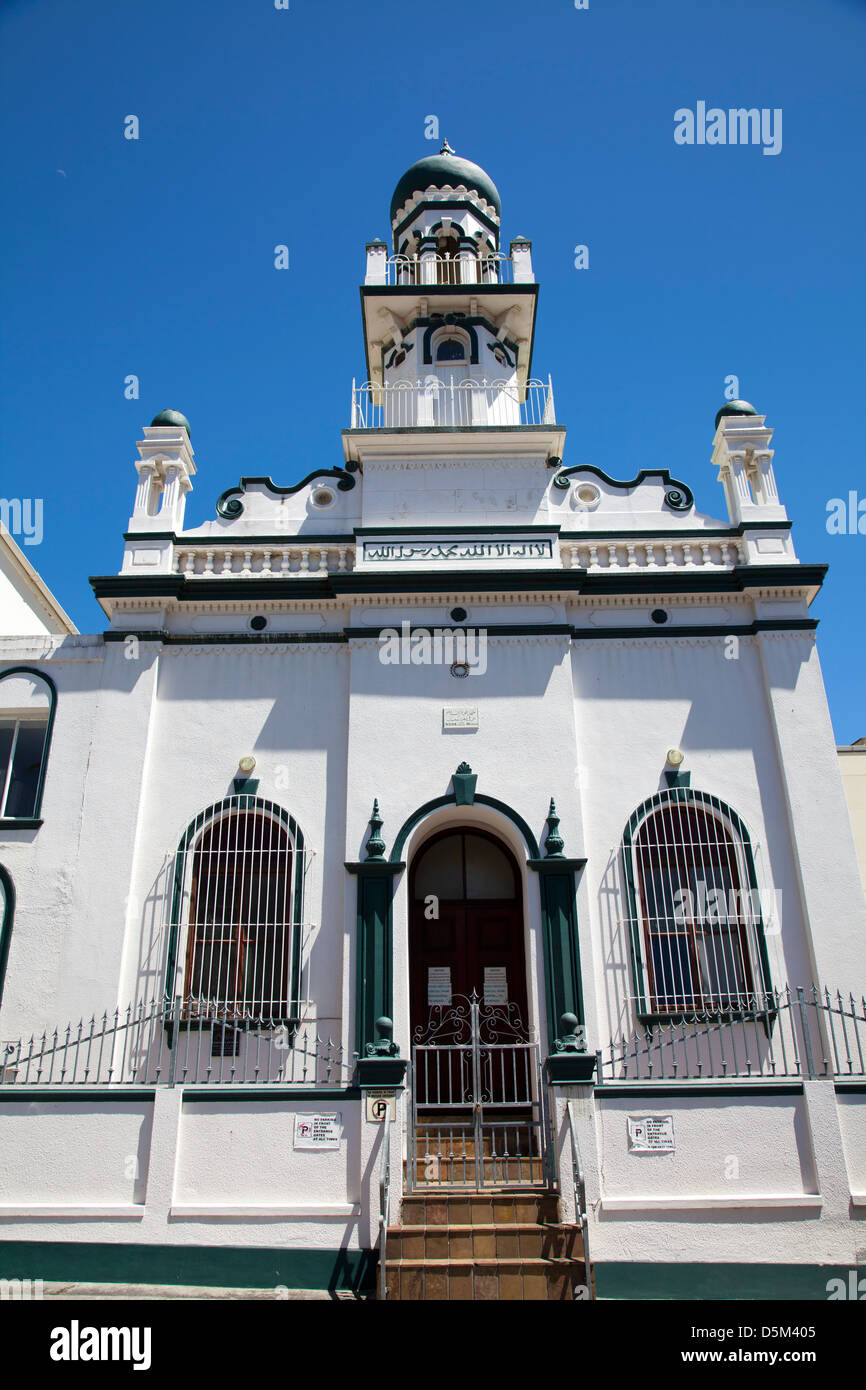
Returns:
[[[575,1259],[388,1261],[388,1298],[553,1301],[581,1297],[584,1265]]]

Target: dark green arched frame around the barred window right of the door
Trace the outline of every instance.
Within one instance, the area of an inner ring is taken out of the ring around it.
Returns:
[[[653,999],[651,998],[648,988],[648,962],[646,962],[646,941],[644,931],[644,910],[641,905],[641,898],[638,892],[637,883],[637,867],[635,867],[635,841],[639,835],[642,827],[649,821],[649,819],[657,812],[663,812],[673,806],[694,808],[703,812],[705,815],[717,819],[727,834],[730,835],[734,849],[737,852],[738,869],[742,880],[742,888],[748,888],[752,894],[752,902],[759,902],[759,887],[758,874],[755,870],[755,855],[752,852],[752,840],[745,821],[737,812],[723,802],[719,796],[710,795],[709,792],[694,791],[691,787],[669,787],[666,791],[657,791],[653,796],[648,796],[646,801],[641,802],[637,810],[631,815],[626,831],[623,834],[621,844],[621,865],[623,865],[623,878],[627,898],[627,912],[628,912],[628,929],[630,929],[630,949],[631,949],[631,977],[634,981],[634,991],[637,999],[637,1013],[638,1019],[644,1023],[670,1023],[677,1019],[691,1017],[692,1011],[671,1009],[663,1013],[653,1008]],[[767,956],[767,942],[766,931],[763,923],[763,915],[760,910],[753,913],[749,923],[749,930],[753,933],[752,948],[756,958],[756,969],[753,979],[753,994],[756,995],[756,1008],[752,1012],[759,1012],[762,1016],[774,1016],[774,1002],[771,994],[771,977],[770,977],[770,960]],[[724,1011],[724,1016],[730,1019],[744,1017],[745,1011],[728,1006]]]

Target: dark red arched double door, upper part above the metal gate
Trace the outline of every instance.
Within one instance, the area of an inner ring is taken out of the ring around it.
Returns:
[[[409,970],[413,1036],[431,1008],[473,991],[527,1023],[520,874],[500,840],[460,827],[421,845],[410,874]]]

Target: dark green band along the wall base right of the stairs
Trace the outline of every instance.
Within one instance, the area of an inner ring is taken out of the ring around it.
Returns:
[[[709,1302],[826,1302],[830,1279],[848,1284],[851,1265],[648,1264],[594,1261],[598,1298]],[[752,1319],[755,1320],[755,1319]],[[803,1320],[802,1318],[799,1319]],[[719,1348],[720,1343],[695,1343]],[[758,1347],[758,1339],[755,1346]],[[820,1357],[820,1351],[819,1351]]]

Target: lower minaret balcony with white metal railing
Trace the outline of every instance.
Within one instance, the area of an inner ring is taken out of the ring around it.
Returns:
[[[468,430],[555,425],[553,384],[427,377],[378,386],[352,384],[352,430]]]

